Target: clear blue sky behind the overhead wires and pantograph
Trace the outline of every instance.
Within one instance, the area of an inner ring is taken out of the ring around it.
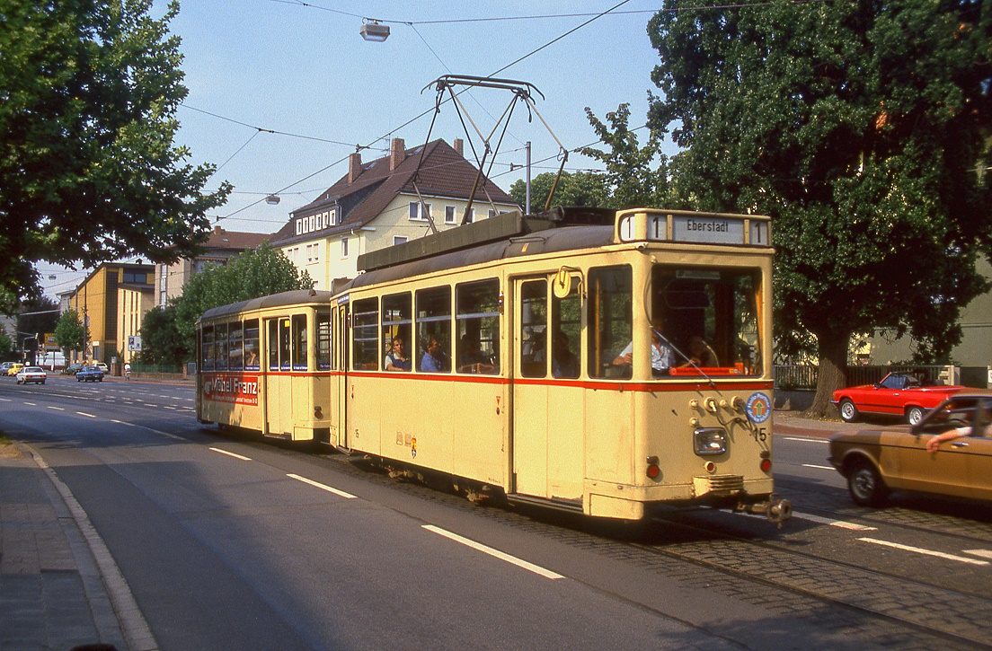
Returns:
[[[408,147],[425,142],[435,93],[421,91],[434,79],[493,74],[620,1],[314,0],[307,6],[297,0],[188,0],[171,24],[183,40],[189,90],[178,111],[183,126],[177,144],[189,148],[189,163],[220,166],[208,189],[221,180],[234,185],[211,222],[227,230],[272,233],[292,210],[345,173],[355,146],[372,148],[362,152],[369,161],[384,154],[390,137],[403,138]],[[538,111],[569,150],[596,141],[586,106],[605,119],[628,102],[632,126],[643,124],[648,91],[658,92],[650,78],[658,54],[645,31],[658,6],[629,0],[618,13],[592,21],[498,76],[528,81],[544,93],[545,99],[536,97]],[[155,13],[161,15],[164,7],[157,3]],[[549,17],[479,20],[536,16]],[[362,17],[389,25],[389,39],[363,41]],[[488,134],[510,95],[475,89],[461,99]],[[465,139],[450,103],[441,108],[431,138]],[[474,132],[472,140],[478,146]],[[525,163],[527,141],[533,143],[532,175],[557,169],[558,145],[537,116],[529,122],[518,106],[491,174],[504,189],[523,177],[522,170],[509,169],[510,163]],[[566,165],[598,167],[578,155]],[[277,191],[278,205],[263,200]],[[84,275],[49,266],[39,270],[53,296]],[[55,280],[48,279],[50,273]]]

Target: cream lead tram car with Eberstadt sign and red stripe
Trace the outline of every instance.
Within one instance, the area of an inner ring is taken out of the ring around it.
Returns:
[[[329,356],[326,373],[308,367],[293,436],[470,496],[621,519],[662,504],[785,519],[770,229],[753,215],[559,208],[366,254],[326,303],[298,306]],[[248,314],[218,310],[201,324]],[[249,426],[271,421],[266,408]]]

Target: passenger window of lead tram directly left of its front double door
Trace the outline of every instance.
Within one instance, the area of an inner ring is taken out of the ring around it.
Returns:
[[[456,285],[454,305],[458,373],[499,373],[499,280]]]

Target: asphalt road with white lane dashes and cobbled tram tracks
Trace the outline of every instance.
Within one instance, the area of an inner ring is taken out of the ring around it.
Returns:
[[[781,529],[697,511],[628,531],[222,434],[195,421],[189,385],[0,381],[0,430],[75,495],[162,649],[992,639],[992,509],[857,507],[814,437],[776,436],[797,510]]]

